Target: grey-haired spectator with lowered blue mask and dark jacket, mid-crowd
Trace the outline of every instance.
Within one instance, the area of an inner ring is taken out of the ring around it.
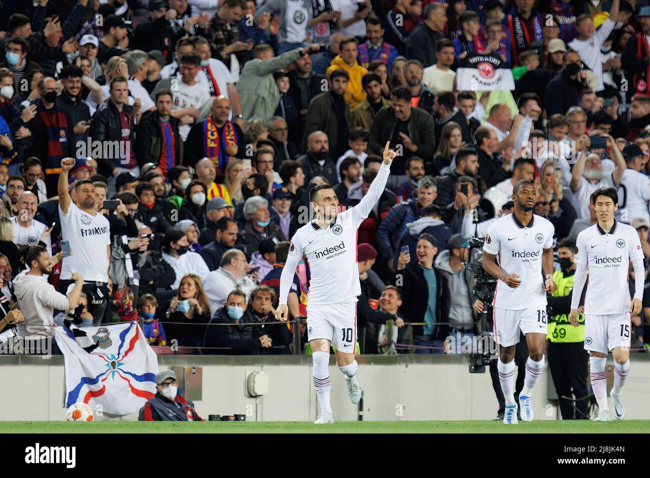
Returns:
[[[268,200],[265,198],[253,196],[247,199],[244,203],[244,217],[246,222],[240,230],[237,244],[242,246],[248,260],[257,252],[263,239],[275,238],[278,242],[287,240],[279,226],[271,222]]]

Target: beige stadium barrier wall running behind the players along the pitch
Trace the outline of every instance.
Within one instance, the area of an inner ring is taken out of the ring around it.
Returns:
[[[486,420],[497,413],[489,370],[468,372],[467,356],[362,356],[359,380],[365,420]],[[607,369],[612,368],[612,359]],[[650,419],[650,356],[632,355],[625,387],[627,419]],[[305,421],[317,414],[311,382],[311,356],[159,356],[159,369],[202,367],[202,399],[196,410],[244,414],[247,421]],[[269,390],[263,397],[246,393],[248,373],[262,370]],[[357,420],[359,409],[348,399],[343,374],[330,360],[331,405],[337,420]],[[608,372],[611,375],[611,371]],[[0,420],[63,420],[65,385],[62,356],[0,356]],[[180,385],[180,384],[179,384]],[[549,398],[551,397],[551,398]],[[554,398],[554,399],[553,399]],[[535,419],[558,419],[558,403],[548,365],[532,397]],[[136,420],[98,416],[98,420]]]

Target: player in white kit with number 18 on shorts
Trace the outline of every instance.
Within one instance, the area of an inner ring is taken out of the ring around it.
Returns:
[[[519,330],[526,336],[529,352],[524,388],[519,393],[521,419],[533,419],[530,397],[544,367],[546,347],[545,291],[552,293],[557,287],[552,275],[555,228],[549,220],[532,213],[536,199],[532,181],[517,181],[512,190],[514,212],[489,226],[483,246],[483,268],[499,279],[492,305],[499,344],[499,381],[506,399],[503,417],[506,424],[517,423],[514,358]],[[499,263],[495,262],[497,257]]]

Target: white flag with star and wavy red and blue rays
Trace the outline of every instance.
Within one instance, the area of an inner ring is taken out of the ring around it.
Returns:
[[[83,402],[123,416],[155,395],[158,357],[138,323],[56,327],[55,334],[65,357],[66,407]],[[80,342],[91,341],[96,347],[88,352]]]

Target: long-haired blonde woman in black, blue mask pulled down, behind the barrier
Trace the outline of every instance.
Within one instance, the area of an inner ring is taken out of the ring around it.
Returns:
[[[205,324],[210,321],[210,304],[199,276],[185,274],[181,278],[167,314],[169,324],[165,324],[165,331],[168,342],[177,339],[178,345],[185,347],[203,345]]]

